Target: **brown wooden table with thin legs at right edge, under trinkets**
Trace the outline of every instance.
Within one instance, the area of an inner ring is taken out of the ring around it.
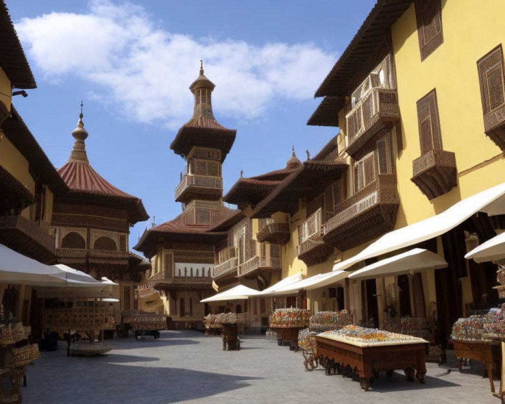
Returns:
[[[458,368],[461,369],[461,358],[474,359],[481,361],[487,370],[487,377],[491,386],[491,392],[494,393],[493,383],[493,366],[500,364],[501,369],[501,348],[499,344],[490,344],[485,342],[469,342],[464,340],[453,339],[454,355],[458,361]]]

